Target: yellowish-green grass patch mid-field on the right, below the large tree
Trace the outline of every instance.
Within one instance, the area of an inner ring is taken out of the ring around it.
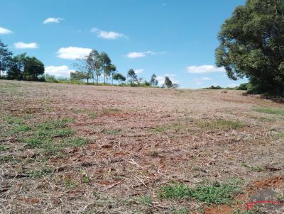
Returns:
[[[202,121],[197,125],[200,128],[207,130],[231,130],[231,129],[239,129],[244,127],[244,124],[241,123],[240,121],[224,120],[224,119]]]

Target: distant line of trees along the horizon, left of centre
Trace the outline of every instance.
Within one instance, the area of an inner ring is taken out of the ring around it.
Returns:
[[[53,82],[70,82],[84,84],[114,84],[124,86],[151,86],[158,87],[158,80],[155,74],[152,75],[150,81],[143,80],[138,77],[133,69],[129,69],[127,76],[119,73],[116,66],[111,63],[111,59],[106,52],[99,53],[92,50],[89,55],[82,59],[78,59],[74,67],[77,71],[70,73],[69,79],[56,79],[53,76],[45,74],[43,62],[36,57],[29,57],[26,53],[13,56],[8,50],[7,45],[0,40],[0,79],[16,79],[26,81],[53,81]],[[103,79],[103,81],[101,81]],[[126,82],[126,79],[128,81]],[[109,82],[111,81],[111,82]],[[177,88],[177,84],[173,84],[169,77],[165,77],[162,85],[164,88]]]

